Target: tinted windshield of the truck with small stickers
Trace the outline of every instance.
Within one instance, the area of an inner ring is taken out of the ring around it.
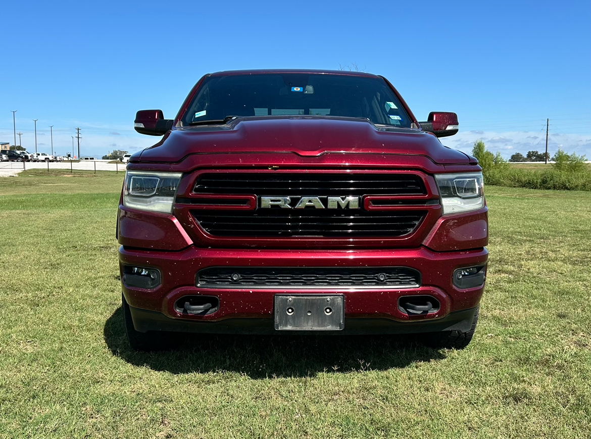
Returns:
[[[412,121],[378,77],[262,73],[207,77],[183,126],[229,116],[346,116],[410,128]]]

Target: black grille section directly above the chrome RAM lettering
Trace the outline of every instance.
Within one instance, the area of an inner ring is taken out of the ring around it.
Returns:
[[[194,187],[202,194],[258,196],[423,195],[415,174],[374,173],[235,173],[203,174]]]

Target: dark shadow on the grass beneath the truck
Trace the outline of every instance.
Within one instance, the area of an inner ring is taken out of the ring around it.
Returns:
[[[135,352],[129,347],[119,307],[106,321],[109,350],[135,366],[170,373],[242,373],[252,379],[310,377],[405,368],[444,359],[413,336],[236,336],[171,333],[167,350]]]

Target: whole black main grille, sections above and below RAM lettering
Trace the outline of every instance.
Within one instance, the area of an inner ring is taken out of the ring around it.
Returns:
[[[192,196],[199,194],[261,196],[417,196],[422,200],[405,203],[426,204],[427,190],[417,173],[380,171],[258,171],[204,173],[197,179]],[[326,199],[325,199],[326,200]],[[181,202],[189,202],[182,200]],[[202,203],[224,204],[224,200]],[[243,201],[233,201],[243,203]],[[427,207],[427,206],[426,206]],[[410,235],[427,214],[427,210],[359,209],[191,209],[191,215],[205,232],[213,236],[289,238],[319,236],[353,238],[375,236],[397,238]]]

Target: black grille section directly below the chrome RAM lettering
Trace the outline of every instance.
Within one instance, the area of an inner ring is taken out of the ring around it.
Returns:
[[[193,216],[215,236],[404,236],[426,215],[408,212],[365,212],[328,209],[193,210]]]

